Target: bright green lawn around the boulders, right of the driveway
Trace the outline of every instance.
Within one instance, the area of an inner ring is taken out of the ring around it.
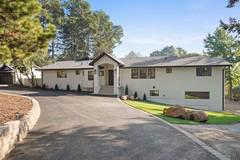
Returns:
[[[123,102],[134,108],[151,113],[173,124],[230,124],[240,122],[240,115],[235,115],[229,112],[205,111],[208,114],[208,121],[206,123],[199,123],[191,120],[184,120],[163,115],[163,109],[170,107],[170,105],[167,104],[131,100],[126,100]]]

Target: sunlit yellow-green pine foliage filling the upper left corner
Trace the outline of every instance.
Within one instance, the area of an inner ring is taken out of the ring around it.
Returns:
[[[39,16],[41,5],[37,0],[0,1],[0,61],[11,63],[22,71],[23,60],[48,47],[55,27],[43,28]],[[20,83],[21,79],[18,77]]]

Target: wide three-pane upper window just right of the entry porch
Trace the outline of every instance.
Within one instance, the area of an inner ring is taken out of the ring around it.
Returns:
[[[154,79],[155,68],[135,68],[132,69],[132,79]]]

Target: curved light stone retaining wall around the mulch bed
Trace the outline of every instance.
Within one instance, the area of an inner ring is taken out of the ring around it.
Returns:
[[[16,143],[21,142],[27,136],[27,133],[34,127],[40,117],[41,109],[38,101],[26,96],[21,97],[30,99],[32,108],[20,120],[10,121],[0,126],[0,160],[10,153]]]

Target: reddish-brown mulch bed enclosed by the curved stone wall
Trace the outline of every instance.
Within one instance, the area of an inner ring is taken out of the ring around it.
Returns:
[[[16,113],[24,116],[32,108],[28,98],[0,93],[0,124],[16,120]]]

